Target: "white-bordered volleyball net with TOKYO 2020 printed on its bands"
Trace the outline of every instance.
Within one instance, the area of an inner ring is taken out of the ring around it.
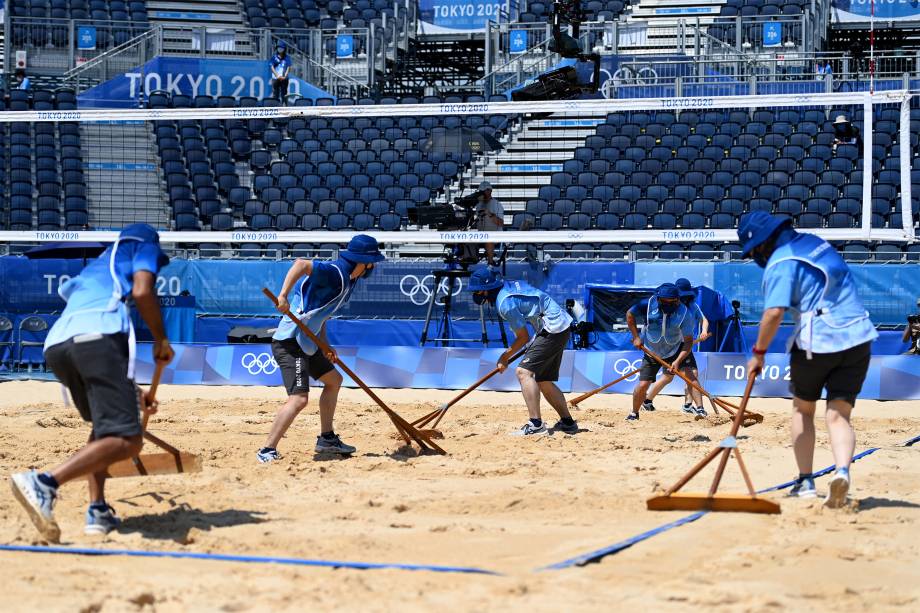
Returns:
[[[5,111],[0,245],[108,241],[146,222],[164,243],[219,254],[356,232],[397,246],[686,246],[737,242],[753,210],[828,240],[913,241],[911,101],[886,91],[278,106],[152,94],[145,109]],[[504,207],[500,234],[476,229],[466,197],[482,181]]]

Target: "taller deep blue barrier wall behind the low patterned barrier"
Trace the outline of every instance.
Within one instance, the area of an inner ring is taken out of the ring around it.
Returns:
[[[186,291],[197,300],[199,315],[274,315],[262,295],[264,285],[280,287],[290,262],[244,260],[173,260],[160,274],[161,295]],[[427,298],[433,290],[436,262],[383,262],[367,282],[361,283],[342,310],[346,317],[425,316]],[[64,303],[58,285],[82,268],[80,260],[29,260],[0,257],[0,313],[60,311]],[[920,266],[916,264],[852,264],[850,269],[860,295],[876,324],[904,325],[920,295]],[[762,271],[753,263],[740,262],[559,262],[544,272],[541,266],[510,263],[508,276],[526,279],[562,302],[584,298],[585,284],[657,286],[678,277],[706,285],[741,301],[745,319],[759,318],[763,306]],[[217,281],[215,281],[217,280]],[[466,280],[455,289],[454,312],[458,317],[478,317],[466,289]]]

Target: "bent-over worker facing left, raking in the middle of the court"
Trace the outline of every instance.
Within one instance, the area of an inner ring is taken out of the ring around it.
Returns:
[[[494,304],[502,319],[514,330],[514,342],[498,359],[504,372],[515,353],[527,347],[520,366],[515,369],[530,419],[515,434],[524,436],[547,432],[540,414],[540,395],[559,414],[553,430],[576,434],[578,424],[572,419],[562,390],[556,385],[562,355],[569,344],[572,317],[545,292],[523,281],[505,281],[501,273],[489,267],[475,270],[470,277],[473,301]],[[533,336],[527,330],[533,328]],[[528,345],[529,343],[529,345]]]

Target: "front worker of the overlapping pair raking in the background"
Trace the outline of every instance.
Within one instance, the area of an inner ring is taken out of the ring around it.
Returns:
[[[637,319],[642,319],[645,324],[641,334],[636,324]],[[693,348],[696,320],[687,307],[681,304],[680,290],[676,285],[665,283],[655,290],[654,295],[630,307],[626,311],[626,325],[632,333],[632,343],[636,349],[645,347],[671,365],[666,375],[673,376],[682,369],[691,381],[696,381],[693,370],[685,363]],[[643,356],[639,382],[633,390],[632,412],[626,416],[627,421],[639,419],[639,409],[643,406],[647,411],[655,410],[654,405],[646,404],[645,401],[659,370],[661,364],[648,355]],[[702,407],[702,401],[697,406]]]

